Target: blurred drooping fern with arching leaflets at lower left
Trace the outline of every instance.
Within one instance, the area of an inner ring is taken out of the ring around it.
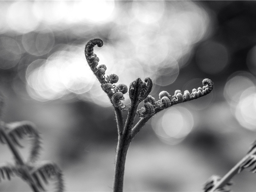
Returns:
[[[1,105],[2,106],[2,105]],[[0,109],[2,110],[2,109]],[[32,147],[27,161],[24,161],[18,148],[23,148],[20,139],[31,139]],[[0,142],[7,144],[15,159],[15,164],[0,164],[0,181],[18,176],[26,181],[34,192],[45,191],[42,180],[48,184],[54,180],[56,191],[64,190],[60,168],[51,162],[37,162],[41,149],[41,137],[34,124],[28,121],[4,123],[0,121]]]

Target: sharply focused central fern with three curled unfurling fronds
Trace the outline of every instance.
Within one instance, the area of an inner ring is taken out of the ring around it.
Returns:
[[[98,66],[99,58],[93,53],[93,47],[96,45],[98,47],[103,46],[103,41],[99,38],[91,39],[85,45],[84,53],[88,65],[101,84],[102,90],[107,93],[116,115],[118,142],[113,190],[114,192],[121,192],[123,191],[126,154],[134,136],[158,112],[172,105],[194,100],[210,93],[213,89],[213,82],[210,79],[204,79],[204,86],[193,89],[191,93],[186,90],[182,94],[180,90],[176,90],[174,95],[170,95],[167,91],[162,91],[159,93],[159,100],[156,101],[154,97],[149,95],[153,85],[149,77],[145,78],[144,82],[140,78],[137,78],[130,84],[129,89],[125,84],[115,85],[118,82],[118,76],[116,74],[106,77],[106,66]],[[126,106],[122,101],[124,100],[124,94],[128,91],[130,104]],[[140,102],[144,103],[144,108],[138,109]],[[125,121],[122,111],[127,112]],[[136,115],[140,117],[140,120],[134,124]]]

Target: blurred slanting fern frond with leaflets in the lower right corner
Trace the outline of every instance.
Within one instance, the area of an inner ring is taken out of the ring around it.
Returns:
[[[228,186],[233,184],[230,179],[249,167],[251,168],[250,171],[252,173],[256,172],[256,141],[252,143],[248,153],[232,169],[230,169],[226,175],[224,175],[222,178],[217,175],[212,175],[204,184],[204,192],[229,192],[230,189]]]

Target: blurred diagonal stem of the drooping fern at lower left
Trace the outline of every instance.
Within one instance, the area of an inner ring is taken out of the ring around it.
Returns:
[[[28,178],[28,183],[29,183],[30,187],[33,189],[34,192],[39,192],[39,189],[38,189],[37,185],[35,184],[35,181],[33,180],[33,178],[31,177],[31,175],[29,173],[28,167],[26,166],[26,164],[22,160],[22,157],[20,156],[20,153],[17,151],[17,149],[13,145],[10,137],[3,130],[2,124],[1,124],[1,127],[0,127],[0,132],[1,132],[1,135],[4,136],[4,139],[6,140],[9,148],[11,149],[11,151],[14,155],[14,158],[16,160],[16,163],[19,164],[20,166],[23,166],[24,174],[26,174],[26,178]]]

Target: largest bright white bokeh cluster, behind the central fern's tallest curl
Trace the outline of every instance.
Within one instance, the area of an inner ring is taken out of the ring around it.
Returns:
[[[100,99],[104,92],[84,58],[84,45],[93,37],[103,39],[104,46],[94,52],[99,64],[107,66],[106,76],[119,76],[118,84],[150,77],[155,85],[170,85],[186,65],[184,56],[189,58],[194,44],[206,36],[210,22],[202,7],[188,1],[0,4],[0,35],[19,34],[0,37],[0,57],[6,60],[0,68],[26,62],[27,91],[40,101],[78,98],[109,106],[108,98]]]

